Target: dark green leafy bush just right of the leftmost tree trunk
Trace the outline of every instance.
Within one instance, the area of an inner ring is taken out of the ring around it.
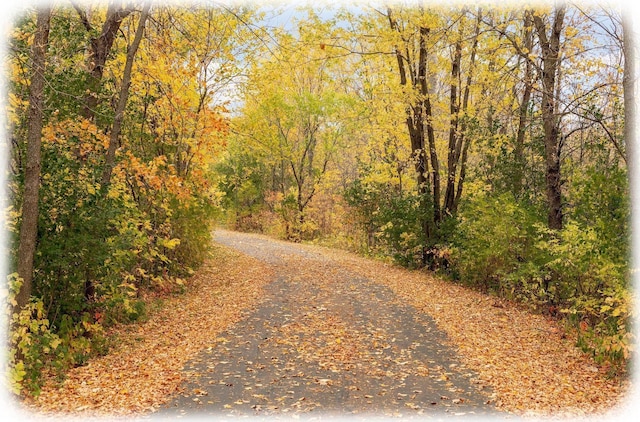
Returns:
[[[101,189],[104,138],[95,126],[63,121],[45,136],[34,294],[59,326],[128,297],[122,278],[135,251],[150,246],[150,227],[123,186]]]

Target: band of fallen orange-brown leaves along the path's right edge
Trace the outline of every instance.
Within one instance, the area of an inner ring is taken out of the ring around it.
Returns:
[[[623,404],[630,383],[610,379],[574,345],[557,321],[496,298],[343,252],[325,249],[345,267],[385,284],[429,314],[463,362],[496,393],[497,407],[520,415],[606,414]]]

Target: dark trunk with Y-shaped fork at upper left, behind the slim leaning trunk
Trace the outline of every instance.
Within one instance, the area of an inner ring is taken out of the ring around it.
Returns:
[[[72,2],[72,4],[76,12],[78,12],[85,29],[91,34],[94,29],[86,12],[82,10],[76,2]],[[111,52],[111,47],[118,35],[122,21],[133,12],[132,7],[116,6],[116,4],[117,2],[109,3],[107,17],[102,25],[100,35],[91,37],[90,52],[87,57],[87,91],[82,109],[82,116],[90,120],[95,118],[96,108],[99,104],[100,83],[104,74],[104,66]]]

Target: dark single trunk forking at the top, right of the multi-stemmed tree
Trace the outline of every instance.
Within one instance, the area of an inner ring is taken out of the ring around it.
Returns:
[[[546,162],[546,191],[550,229],[562,229],[562,190],[560,180],[560,139],[559,119],[556,114],[556,75],[560,65],[560,35],[565,15],[564,4],[558,6],[551,23],[551,33],[542,17],[533,16],[538,39],[542,48],[542,122],[544,128],[544,150]]]

